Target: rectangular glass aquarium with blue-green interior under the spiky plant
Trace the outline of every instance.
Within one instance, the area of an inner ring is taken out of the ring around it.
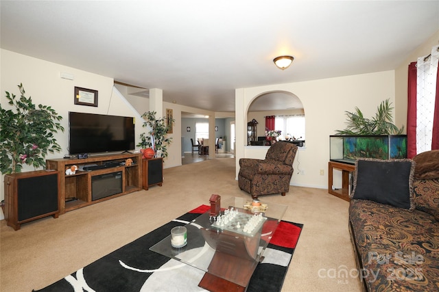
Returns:
[[[407,135],[331,135],[329,160],[355,164],[358,158],[407,158]]]

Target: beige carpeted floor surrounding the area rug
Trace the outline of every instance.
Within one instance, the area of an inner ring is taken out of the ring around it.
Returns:
[[[163,187],[150,187],[14,231],[0,222],[0,290],[42,289],[170,220],[209,204],[211,194],[250,198],[235,180],[235,159],[167,168]],[[360,291],[348,233],[348,202],[325,189],[291,187],[283,220],[304,224],[282,291]]]

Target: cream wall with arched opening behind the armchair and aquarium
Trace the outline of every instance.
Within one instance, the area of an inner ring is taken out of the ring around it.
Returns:
[[[294,161],[291,184],[327,188],[329,135],[346,127],[345,111],[354,111],[355,107],[359,107],[366,117],[370,117],[375,115],[378,105],[386,98],[394,103],[394,71],[236,90],[236,176],[239,173],[239,158],[262,155],[257,155],[254,150],[248,152],[246,139],[241,138],[247,137],[248,107],[257,96],[278,90],[298,96],[305,110],[306,144]],[[261,151],[265,150],[262,148]],[[305,175],[297,174],[298,160]],[[320,170],[324,170],[323,176]]]

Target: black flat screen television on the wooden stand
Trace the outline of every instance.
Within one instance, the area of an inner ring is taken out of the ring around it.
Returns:
[[[134,149],[134,118],[69,112],[69,153]]]

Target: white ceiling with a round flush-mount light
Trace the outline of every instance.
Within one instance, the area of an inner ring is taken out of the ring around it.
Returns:
[[[439,1],[0,1],[0,13],[2,49],[230,112],[236,88],[393,70],[439,30]]]

